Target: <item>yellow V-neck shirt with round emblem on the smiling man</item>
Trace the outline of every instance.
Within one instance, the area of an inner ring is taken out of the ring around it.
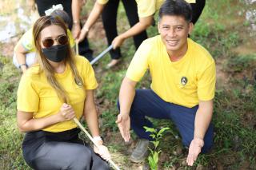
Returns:
[[[149,69],[151,89],[162,100],[188,108],[210,101],[216,81],[214,59],[201,45],[190,38],[187,41],[185,56],[172,62],[159,35],[145,40],[134,54],[126,77],[140,81]]]

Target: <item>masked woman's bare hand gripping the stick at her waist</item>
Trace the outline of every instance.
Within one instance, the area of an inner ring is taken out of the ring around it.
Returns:
[[[60,121],[70,121],[75,117],[74,109],[71,105],[67,105],[66,103],[63,103],[61,109],[58,112],[60,116]]]

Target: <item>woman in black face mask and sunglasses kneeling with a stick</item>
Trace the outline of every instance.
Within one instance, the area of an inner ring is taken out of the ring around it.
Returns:
[[[33,36],[38,64],[22,74],[17,94],[26,163],[33,169],[109,169],[104,160],[110,153],[99,136],[93,94],[98,84],[90,62],[74,56],[59,18],[39,18]],[[82,116],[99,145],[94,151],[78,138],[73,118]]]

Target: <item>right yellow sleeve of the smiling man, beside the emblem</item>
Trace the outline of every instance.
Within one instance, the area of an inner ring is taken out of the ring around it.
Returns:
[[[210,101],[214,98],[216,69],[214,61],[198,75],[198,98],[200,101]]]

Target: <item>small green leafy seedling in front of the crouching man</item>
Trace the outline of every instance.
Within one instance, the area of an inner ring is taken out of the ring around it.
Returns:
[[[150,155],[148,156],[150,169],[151,170],[157,170],[158,169],[158,160],[159,160],[159,154],[161,149],[158,147],[160,143],[160,139],[162,138],[162,133],[170,128],[161,128],[161,130],[157,130],[155,128],[148,128],[144,126],[146,129],[146,132],[151,132],[150,136],[154,139],[153,141],[150,141],[152,144],[154,144],[154,148],[150,149]]]

